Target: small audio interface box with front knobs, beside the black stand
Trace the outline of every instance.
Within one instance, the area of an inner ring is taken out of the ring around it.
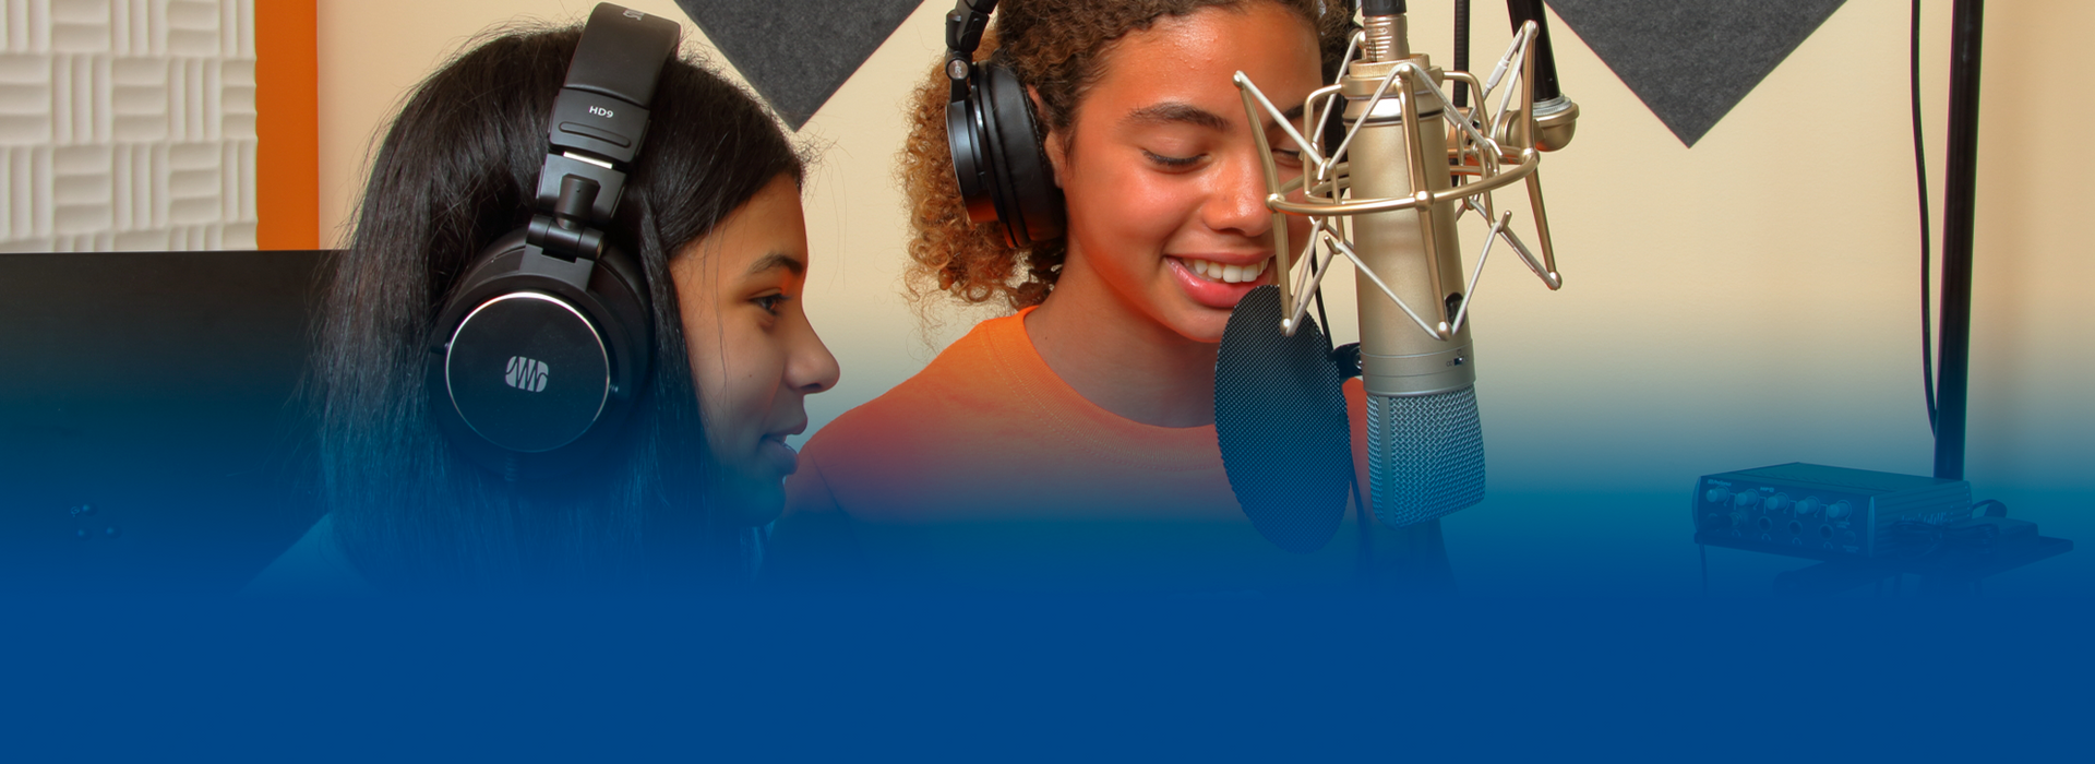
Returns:
[[[1789,463],[1695,481],[1695,538],[1816,559],[1896,557],[1971,517],[1971,484]]]

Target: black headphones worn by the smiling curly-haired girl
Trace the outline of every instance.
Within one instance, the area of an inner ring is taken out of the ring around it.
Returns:
[[[1031,247],[1062,237],[1062,188],[1041,153],[1033,98],[1008,63],[974,63],[997,0],[957,0],[945,17],[945,142],[968,220],[1004,224],[1004,241]]]

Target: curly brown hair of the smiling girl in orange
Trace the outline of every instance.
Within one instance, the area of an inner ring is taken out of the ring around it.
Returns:
[[[1278,4],[1307,21],[1322,40],[1326,80],[1337,71],[1351,33],[1351,0],[1006,0],[997,6],[974,57],[1010,63],[1018,82],[1039,94],[1037,123],[1066,134],[1077,117],[1077,105],[1102,75],[1100,65],[1117,40],[1148,29],[1163,17],[1184,17],[1200,8],[1244,8],[1257,2]],[[968,222],[945,140],[951,80],[943,63],[941,54],[909,100],[909,140],[897,157],[911,228],[907,247],[911,262],[903,283],[926,320],[930,301],[939,293],[966,306],[991,301],[1004,301],[1010,310],[1039,306],[1062,272],[1066,241],[1014,249],[1004,243],[997,222]],[[1045,134],[1035,140],[1045,140]]]

